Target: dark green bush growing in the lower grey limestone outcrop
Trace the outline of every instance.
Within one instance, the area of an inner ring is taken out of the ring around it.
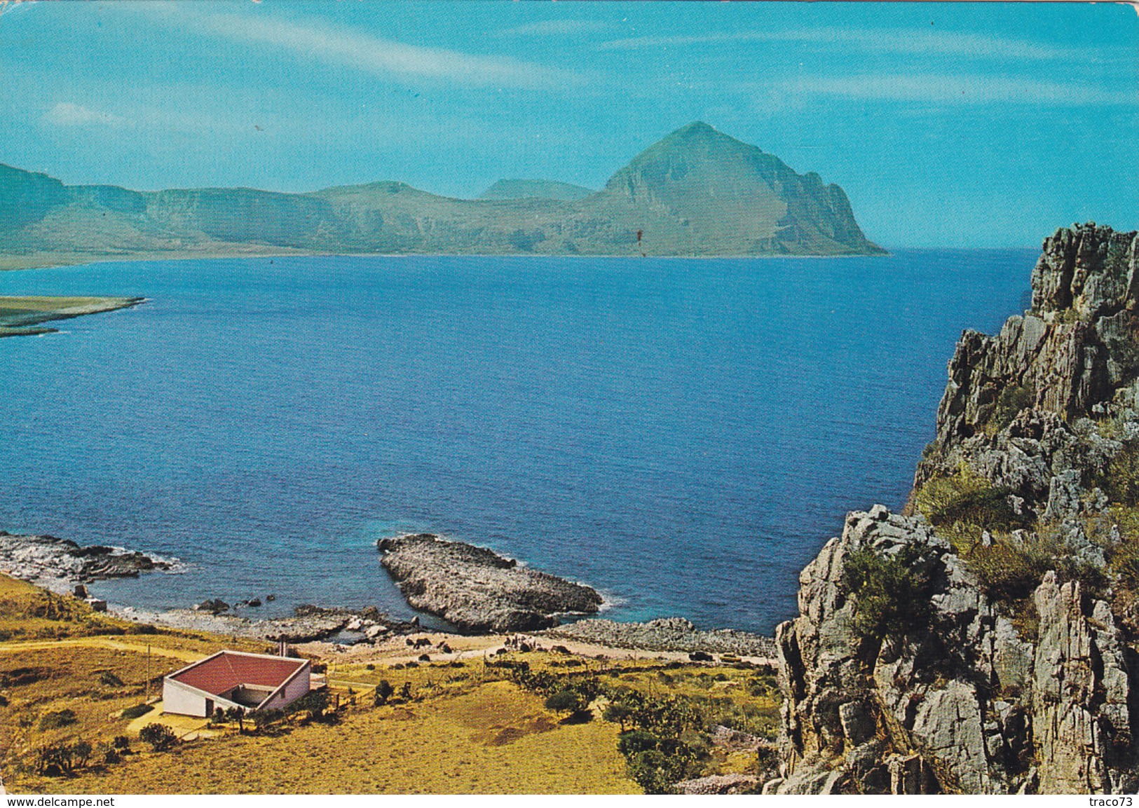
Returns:
[[[854,596],[854,630],[884,640],[906,634],[929,617],[929,580],[916,569],[911,544],[891,556],[861,547],[846,558],[843,584]]]

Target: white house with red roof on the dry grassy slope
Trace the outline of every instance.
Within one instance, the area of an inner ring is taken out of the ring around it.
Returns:
[[[309,692],[311,673],[306,659],[219,651],[163,681],[163,711],[206,718],[219,707],[281,709]]]

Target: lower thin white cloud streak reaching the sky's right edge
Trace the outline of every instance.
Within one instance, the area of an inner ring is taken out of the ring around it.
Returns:
[[[1002,75],[882,73],[803,76],[782,82],[778,86],[790,94],[813,93],[855,100],[1049,106],[1139,104],[1139,97],[1133,92]]]

